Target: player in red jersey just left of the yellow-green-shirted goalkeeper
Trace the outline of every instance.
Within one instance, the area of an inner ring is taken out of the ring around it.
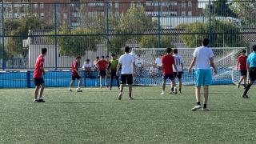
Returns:
[[[98,65],[99,82],[100,82],[100,86],[102,88],[102,78],[104,78],[105,86],[107,86],[107,84],[106,84],[106,68],[108,66],[108,62],[106,62],[106,60],[104,59],[104,56],[102,56],[102,58],[98,62],[96,62],[96,65]]]

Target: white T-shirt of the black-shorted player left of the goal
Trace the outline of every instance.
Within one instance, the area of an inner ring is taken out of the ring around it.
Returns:
[[[121,74],[133,74],[135,58],[131,54],[123,54],[118,62],[122,65]]]

